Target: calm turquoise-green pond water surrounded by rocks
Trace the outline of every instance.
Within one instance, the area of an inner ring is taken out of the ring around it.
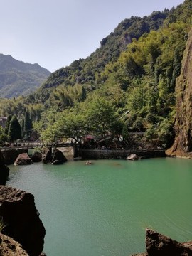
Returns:
[[[145,228],[192,240],[192,160],[100,160],[10,166],[9,186],[33,193],[48,256],[144,252]]]

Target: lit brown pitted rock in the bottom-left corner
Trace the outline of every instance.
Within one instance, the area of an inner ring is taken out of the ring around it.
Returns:
[[[0,255],[1,256],[28,256],[21,245],[13,238],[0,233]]]

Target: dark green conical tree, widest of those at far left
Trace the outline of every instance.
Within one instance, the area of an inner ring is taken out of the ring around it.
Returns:
[[[17,139],[21,139],[21,125],[18,122],[16,115],[11,118],[10,125],[9,125],[9,140],[13,142]]]

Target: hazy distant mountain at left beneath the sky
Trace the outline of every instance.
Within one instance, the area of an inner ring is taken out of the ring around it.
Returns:
[[[0,54],[0,95],[11,98],[29,95],[50,75],[40,65],[15,60],[11,55]]]

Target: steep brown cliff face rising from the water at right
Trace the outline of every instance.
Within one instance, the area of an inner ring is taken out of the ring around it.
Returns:
[[[183,55],[181,75],[176,81],[176,138],[170,156],[192,157],[192,28]]]

